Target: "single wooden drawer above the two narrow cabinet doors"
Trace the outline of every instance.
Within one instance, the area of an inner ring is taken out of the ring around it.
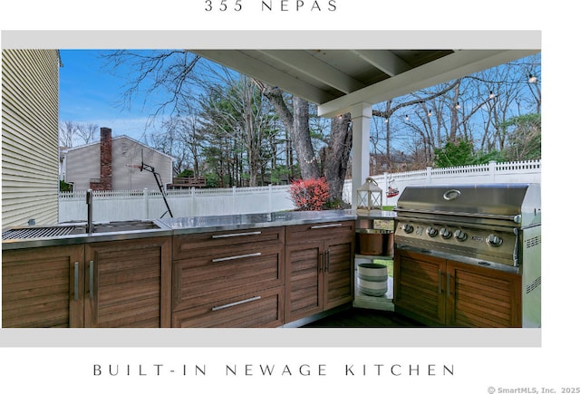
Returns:
[[[314,223],[286,227],[286,243],[320,242],[321,239],[354,236],[354,221]]]

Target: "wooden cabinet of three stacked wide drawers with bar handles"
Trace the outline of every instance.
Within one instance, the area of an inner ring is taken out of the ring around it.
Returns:
[[[172,326],[281,326],[284,246],[284,226],[175,235]]]

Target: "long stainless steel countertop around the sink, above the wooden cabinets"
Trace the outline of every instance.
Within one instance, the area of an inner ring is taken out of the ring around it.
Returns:
[[[237,230],[270,226],[294,226],[311,223],[337,222],[354,220],[352,210],[329,211],[292,211],[269,214],[239,214],[227,216],[192,216],[152,220],[160,228],[103,232],[92,234],[57,235],[26,239],[8,239],[2,241],[2,250],[24,249],[41,246],[80,245],[103,241],[121,241],[153,236],[184,235],[205,233],[209,231]],[[82,223],[76,223],[83,226]],[[54,225],[70,226],[70,224]],[[30,226],[47,227],[47,226]],[[52,226],[51,226],[52,227]],[[4,231],[4,230],[3,230]]]

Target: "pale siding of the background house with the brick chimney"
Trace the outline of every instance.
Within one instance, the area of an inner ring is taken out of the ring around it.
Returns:
[[[143,162],[155,169],[161,177],[161,184],[171,183],[173,177],[173,159],[150,149],[135,139],[127,136],[114,137],[112,139],[112,189],[113,190],[138,190],[149,188],[157,190],[157,182],[149,171],[140,171],[130,165],[141,164],[141,149],[143,150]],[[74,190],[86,190],[92,178],[101,177],[101,143],[95,142],[69,149],[65,153],[66,181],[74,184]]]

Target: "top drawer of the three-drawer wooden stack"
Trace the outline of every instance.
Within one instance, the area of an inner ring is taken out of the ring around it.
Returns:
[[[173,237],[173,259],[211,255],[223,248],[284,245],[284,227],[248,228]],[[256,244],[256,246],[253,246]]]

